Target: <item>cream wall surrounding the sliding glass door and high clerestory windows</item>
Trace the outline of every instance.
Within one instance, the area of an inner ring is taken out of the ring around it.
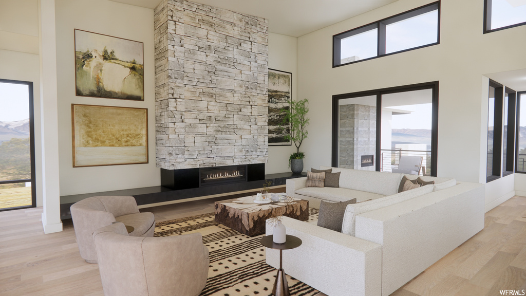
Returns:
[[[482,89],[488,85],[482,76],[526,68],[521,50],[526,38],[519,37],[526,26],[482,34],[481,1],[442,0],[439,45],[332,68],[332,35],[431,2],[399,0],[298,38],[298,97],[308,97],[316,111],[305,142],[307,155],[316,157],[306,159],[306,167],[331,163],[332,95],[439,81],[438,175],[485,183],[487,96]],[[513,191],[507,182],[494,182],[502,188],[487,202]]]

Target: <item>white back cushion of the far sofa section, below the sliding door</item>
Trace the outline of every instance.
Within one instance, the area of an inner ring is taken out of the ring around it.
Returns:
[[[320,166],[320,169],[330,169],[330,166]],[[398,191],[402,174],[373,172],[332,167],[332,172],[340,173],[340,188],[392,195]]]

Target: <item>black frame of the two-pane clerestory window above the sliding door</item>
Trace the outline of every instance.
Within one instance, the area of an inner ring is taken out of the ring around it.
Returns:
[[[429,43],[429,44],[425,44],[425,45],[421,45],[417,47],[411,47],[411,48],[407,48],[406,50],[401,50],[401,51],[386,54],[386,26],[387,25],[396,23],[396,22],[400,22],[400,21],[403,21],[404,19],[418,16],[418,15],[428,13],[434,10],[438,10],[437,42],[433,42],[433,43]],[[378,29],[377,30],[378,32],[377,55],[373,57],[364,58],[363,60],[341,64],[341,40],[344,38],[353,36],[353,35],[367,32],[374,28]],[[332,36],[332,67],[336,68],[336,67],[354,64],[358,62],[369,61],[369,60],[372,60],[373,58],[379,58],[382,56],[388,56],[392,54],[398,54],[398,53],[418,50],[419,48],[424,48],[424,47],[433,46],[437,44],[440,44],[440,1],[433,2],[427,5],[423,5],[423,6],[411,9],[410,11],[406,11],[406,12],[403,12],[397,15],[393,15],[393,16],[390,16],[384,19],[380,19],[380,21],[372,22],[370,24],[363,25],[357,28],[350,29],[346,32],[342,32],[342,33],[333,35]]]

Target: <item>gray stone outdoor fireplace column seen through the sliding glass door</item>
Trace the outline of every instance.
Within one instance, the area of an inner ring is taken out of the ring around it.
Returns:
[[[340,167],[375,171],[374,165],[361,166],[361,156],[376,154],[376,106],[340,106],[339,145]]]

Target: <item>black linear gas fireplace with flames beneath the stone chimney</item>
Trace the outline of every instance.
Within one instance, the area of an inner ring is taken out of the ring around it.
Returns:
[[[161,169],[161,186],[173,190],[242,188],[242,183],[265,180],[265,164],[236,164],[195,169]],[[244,189],[239,189],[244,190]]]

